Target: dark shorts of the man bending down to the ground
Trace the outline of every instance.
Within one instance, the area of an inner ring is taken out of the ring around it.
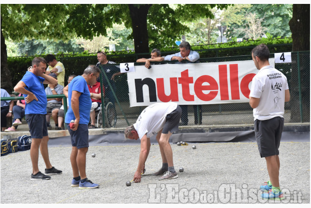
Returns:
[[[177,105],[177,108],[172,113],[167,114],[166,116],[167,120],[164,124],[162,134],[168,134],[168,131],[170,133],[178,131],[180,117],[181,117],[181,108],[179,105]]]

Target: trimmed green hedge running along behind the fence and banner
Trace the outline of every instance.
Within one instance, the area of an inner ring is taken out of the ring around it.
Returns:
[[[279,38],[279,39],[263,38],[257,41],[243,41],[226,44],[192,46],[191,50],[198,51],[200,54],[200,58],[250,55],[252,48],[261,43],[264,43],[269,47],[270,53],[291,51],[292,47],[291,38]],[[168,55],[179,51],[179,47],[165,47],[160,49],[162,55]],[[135,54],[134,51],[107,52],[108,60],[114,61],[116,63],[136,62],[138,55],[139,54]],[[143,55],[146,58],[150,57],[150,53],[144,53]],[[45,54],[41,55],[41,57],[45,57]],[[66,77],[68,77],[71,74],[81,75],[83,73],[83,70],[87,68],[88,65],[90,64],[95,65],[98,62],[96,53],[88,53],[88,51],[76,54],[59,53],[56,54],[55,57],[58,61],[64,64]],[[21,80],[27,68],[31,66],[32,59],[33,56],[8,57],[7,59],[8,69],[11,71],[13,86],[16,85]],[[126,81],[126,78],[124,78],[123,75],[120,76],[120,79],[122,80],[125,79]],[[67,84],[66,81],[65,84]]]

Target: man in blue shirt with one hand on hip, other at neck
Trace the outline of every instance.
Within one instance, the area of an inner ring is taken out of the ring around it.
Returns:
[[[61,174],[61,170],[54,168],[48,158],[48,128],[47,128],[47,95],[43,84],[57,84],[57,80],[44,72],[47,62],[44,58],[36,57],[32,60],[32,68],[26,71],[22,80],[14,87],[14,91],[24,95],[25,118],[31,135],[30,158],[32,162],[31,180],[48,180],[49,175]],[[39,147],[46,163],[45,174],[39,171]]]

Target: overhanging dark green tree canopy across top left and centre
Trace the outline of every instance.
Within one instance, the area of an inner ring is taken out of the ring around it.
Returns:
[[[168,4],[151,5],[145,31],[149,46],[174,46],[175,40],[189,31],[183,25],[185,21],[213,18],[210,8],[214,7],[222,9],[227,4],[178,4],[174,9]],[[1,4],[1,19],[4,38],[14,41],[70,40],[74,36],[92,40],[97,35],[105,36],[113,23],[132,27],[127,4]],[[132,34],[127,36],[131,39]]]

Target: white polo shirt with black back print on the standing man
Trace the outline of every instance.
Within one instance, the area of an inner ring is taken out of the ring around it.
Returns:
[[[250,96],[260,98],[259,106],[253,109],[254,120],[283,117],[287,78],[273,66],[259,70],[252,80]]]

